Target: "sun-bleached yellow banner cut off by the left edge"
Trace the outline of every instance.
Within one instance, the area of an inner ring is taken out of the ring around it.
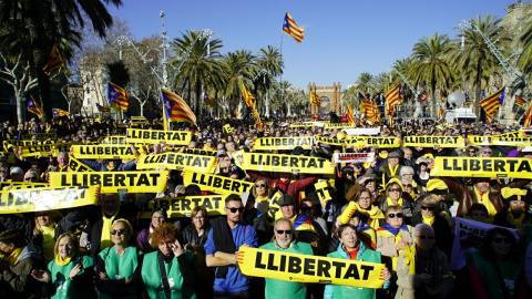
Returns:
[[[39,188],[2,192],[0,214],[39,212],[98,204],[99,187]]]

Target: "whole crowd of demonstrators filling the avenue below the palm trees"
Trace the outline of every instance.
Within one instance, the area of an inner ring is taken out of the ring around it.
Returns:
[[[153,209],[150,219],[139,217],[161,197],[213,194],[185,185],[182,171],[175,169],[164,193],[101,194],[98,205],[4,214],[2,200],[1,298],[532,297],[532,175],[512,179],[431,174],[436,157],[532,159],[530,144],[467,142],[468,136],[511,133],[519,126],[413,120],[380,125],[378,134],[464,137],[466,144],[456,148],[316,142],[310,148],[255,150],[264,137],[346,138],[340,128],[290,126],[304,121],[264,120],[265,128],[258,131],[247,120],[208,120],[174,127],[192,132],[187,145],[145,145],[147,155],[167,147],[207,150],[217,159],[213,174],[252,182],[249,193],[223,195],[222,216],[200,205],[190,217],[173,217],[161,207]],[[0,140],[30,136],[37,144],[35,133],[55,133],[45,142],[95,144],[108,136],[124,136],[124,124],[88,118],[54,118],[45,124],[32,120],[18,126],[3,122]],[[162,130],[155,122],[142,127]],[[0,156],[3,194],[19,182],[47,183],[50,173],[71,171],[68,152],[23,157],[18,146],[7,144]],[[140,155],[133,144],[131,148]],[[375,159],[337,163],[334,175],[272,173],[239,167],[235,159],[241,151],[329,161],[335,153],[375,153]],[[135,171],[137,159],[81,162],[94,172],[116,172]],[[328,182],[330,199],[316,190],[315,183],[321,181]],[[468,252],[467,266],[451,270],[458,218],[493,226],[479,240],[478,250]],[[383,264],[383,283],[372,289],[244,276],[238,268],[242,247]]]

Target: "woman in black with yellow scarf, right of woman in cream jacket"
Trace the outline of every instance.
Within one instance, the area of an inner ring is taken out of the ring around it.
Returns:
[[[453,235],[449,221],[440,215],[440,207],[437,199],[426,197],[421,200],[421,210],[412,217],[412,226],[419,224],[426,224],[432,227],[436,236],[436,246],[450,257]]]

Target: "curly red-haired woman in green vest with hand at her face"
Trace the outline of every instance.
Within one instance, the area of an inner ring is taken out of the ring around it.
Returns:
[[[142,281],[153,299],[193,299],[196,295],[195,256],[178,241],[180,230],[175,225],[162,224],[150,241],[157,251],[147,254],[142,265]]]

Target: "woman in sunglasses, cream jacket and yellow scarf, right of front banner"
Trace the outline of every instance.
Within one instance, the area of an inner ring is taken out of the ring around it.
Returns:
[[[413,244],[412,228],[405,224],[400,206],[389,206],[385,213],[386,224],[377,229],[377,251],[389,269],[396,270],[399,250]]]

